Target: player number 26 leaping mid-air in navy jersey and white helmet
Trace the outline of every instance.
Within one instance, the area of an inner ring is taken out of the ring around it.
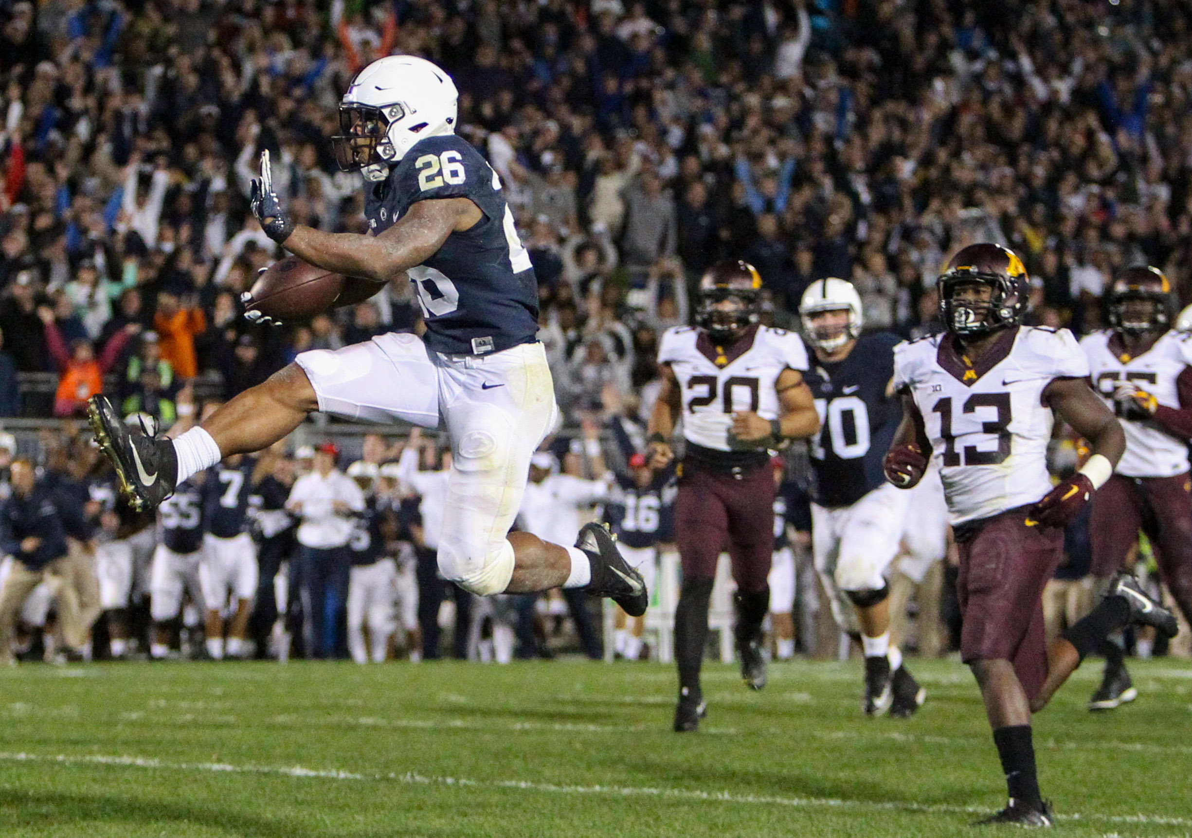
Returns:
[[[93,399],[95,436],[139,507],[236,453],[260,451],[323,410],[436,427],[454,453],[439,567],[479,595],[585,588],[628,614],[646,610],[641,576],[607,529],[588,524],[576,547],[509,534],[530,454],[558,415],[538,331],[538,283],[501,180],[455,136],[457,91],[428,61],[389,56],[358,73],[335,137],[344,169],[364,175],[372,235],[294,224],[272,191],[268,155],[252,206],[266,234],[327,271],[375,281],[409,275],[426,339],[386,334],[343,349],[303,353],[176,440],[125,430]]]

